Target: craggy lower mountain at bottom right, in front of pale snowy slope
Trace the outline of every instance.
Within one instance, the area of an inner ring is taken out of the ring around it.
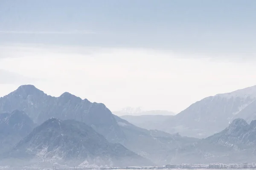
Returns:
[[[224,130],[206,139],[180,148],[173,162],[242,163],[256,159],[256,120],[249,124],[234,119]]]

